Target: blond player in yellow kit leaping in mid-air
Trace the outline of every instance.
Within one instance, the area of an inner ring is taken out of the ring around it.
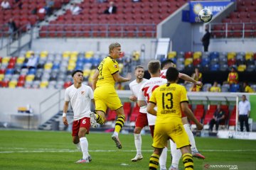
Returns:
[[[119,149],[122,149],[118,134],[124,126],[125,116],[122,102],[120,101],[117,91],[114,89],[115,82],[129,81],[132,76],[121,77],[116,59],[121,55],[121,45],[114,42],[109,46],[109,56],[105,57],[100,63],[95,74],[92,77],[92,89],[94,90],[95,98],[95,120],[100,125],[106,122],[106,111],[110,108],[117,113],[117,121],[115,123],[114,134],[112,140]]]

